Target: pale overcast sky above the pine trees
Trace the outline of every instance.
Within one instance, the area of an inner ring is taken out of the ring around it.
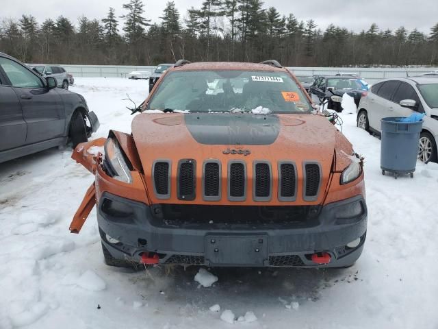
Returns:
[[[108,8],[114,7],[117,16],[125,13],[123,3],[128,0],[0,0],[1,18],[18,18],[32,14],[39,22],[64,15],[77,23],[81,15],[89,19],[102,19]],[[143,0],[146,19],[159,22],[167,0]],[[202,0],[175,0],[181,16],[190,6],[199,7]],[[438,0],[265,0],[265,7],[274,6],[281,14],[292,12],[299,20],[313,19],[320,29],[333,23],[360,32],[377,23],[381,29],[397,29],[404,25],[411,30],[417,27],[429,34],[430,27],[438,23]]]

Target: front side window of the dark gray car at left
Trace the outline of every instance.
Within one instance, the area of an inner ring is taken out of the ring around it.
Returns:
[[[41,88],[44,86],[40,78],[13,60],[0,58],[0,66],[8,76],[12,86],[23,88]]]

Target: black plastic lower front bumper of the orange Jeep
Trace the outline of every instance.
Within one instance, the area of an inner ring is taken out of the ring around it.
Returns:
[[[360,195],[321,207],[308,225],[176,225],[157,219],[154,211],[110,193],[102,195],[99,229],[114,258],[140,262],[149,252],[167,265],[346,267],[361,255],[367,227]],[[315,263],[315,253],[329,254],[330,263]]]

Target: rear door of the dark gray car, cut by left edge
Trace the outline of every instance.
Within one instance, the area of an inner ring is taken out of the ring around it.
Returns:
[[[0,67],[0,152],[25,144],[26,122],[21,103]]]

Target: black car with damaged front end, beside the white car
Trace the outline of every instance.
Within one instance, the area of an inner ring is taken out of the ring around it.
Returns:
[[[366,86],[361,79],[356,77],[342,77],[339,75],[319,76],[309,88],[312,100],[315,103],[320,103],[318,95],[313,93],[315,89],[333,94],[329,100],[328,107],[336,112],[342,112],[343,110],[341,103],[342,96],[344,96],[345,93],[353,97],[356,106],[359,106],[361,97],[365,96],[368,92],[368,86]]]

